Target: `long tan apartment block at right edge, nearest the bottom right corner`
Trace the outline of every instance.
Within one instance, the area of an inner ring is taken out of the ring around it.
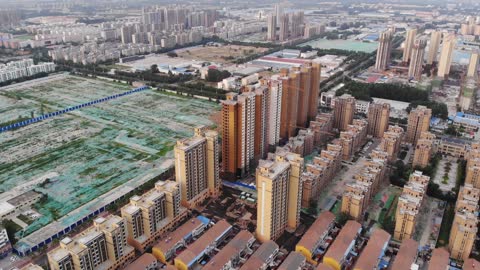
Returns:
[[[467,260],[474,247],[478,232],[479,199],[480,189],[470,184],[460,187],[448,242],[450,256],[456,260]]]

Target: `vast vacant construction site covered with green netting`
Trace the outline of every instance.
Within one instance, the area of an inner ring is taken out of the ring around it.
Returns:
[[[67,74],[5,87],[0,126],[131,88]],[[173,166],[175,142],[194,126],[215,128],[212,114],[219,109],[148,89],[0,133],[0,202],[31,190],[43,194],[31,207],[37,218],[21,235],[44,226],[45,235],[55,234]]]

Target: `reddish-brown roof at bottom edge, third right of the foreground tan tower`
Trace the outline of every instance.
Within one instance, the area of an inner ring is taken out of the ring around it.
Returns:
[[[360,254],[355,269],[375,269],[388,246],[388,241],[390,234],[382,229],[376,229]]]

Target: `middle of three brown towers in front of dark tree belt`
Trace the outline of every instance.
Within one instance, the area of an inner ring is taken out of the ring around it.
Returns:
[[[368,135],[382,138],[388,128],[390,118],[390,104],[371,103],[368,107]]]

